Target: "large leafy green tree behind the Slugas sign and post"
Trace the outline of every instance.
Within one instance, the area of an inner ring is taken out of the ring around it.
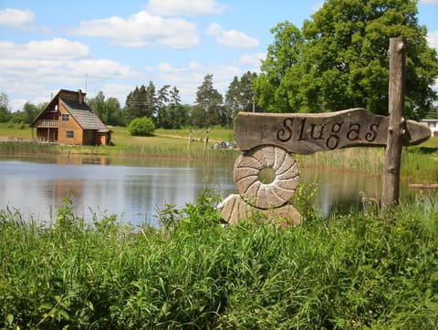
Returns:
[[[406,37],[405,116],[421,119],[433,108],[436,51],[419,26],[415,0],[327,0],[301,30],[273,29],[258,103],[270,111],[332,111],[363,107],[388,114],[389,40]]]

